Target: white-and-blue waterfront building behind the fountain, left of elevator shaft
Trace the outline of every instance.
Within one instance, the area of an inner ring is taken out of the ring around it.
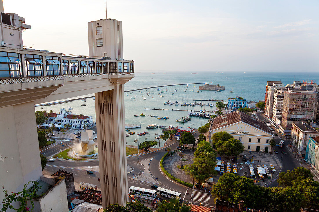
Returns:
[[[48,113],[44,113],[46,116]],[[71,111],[67,111],[64,108],[60,109],[60,113],[49,113],[51,117],[45,120],[45,124],[60,124],[64,126],[65,124],[70,124],[72,128],[81,129],[85,127],[90,127],[93,125],[92,116],[80,116],[72,114]],[[77,118],[73,119],[73,115]]]

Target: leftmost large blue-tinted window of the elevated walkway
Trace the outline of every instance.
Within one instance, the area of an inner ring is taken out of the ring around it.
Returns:
[[[0,78],[22,77],[21,54],[0,52]]]

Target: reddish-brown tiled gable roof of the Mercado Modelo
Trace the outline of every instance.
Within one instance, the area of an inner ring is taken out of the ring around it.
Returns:
[[[236,110],[235,112],[231,112],[223,116],[215,117],[211,124],[211,130],[215,130],[220,127],[225,127],[230,124],[235,124],[241,121],[253,127],[256,127],[262,131],[273,134],[269,127],[263,121],[239,110]]]

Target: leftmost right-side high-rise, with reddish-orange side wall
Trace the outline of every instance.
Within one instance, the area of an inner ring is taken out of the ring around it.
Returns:
[[[265,115],[272,118],[275,88],[283,88],[281,81],[267,81],[265,94]]]

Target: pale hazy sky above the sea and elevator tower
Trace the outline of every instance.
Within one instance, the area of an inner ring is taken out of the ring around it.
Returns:
[[[103,0],[3,0],[31,25],[25,46],[88,55]],[[135,71],[304,71],[319,67],[319,1],[108,0]]]

